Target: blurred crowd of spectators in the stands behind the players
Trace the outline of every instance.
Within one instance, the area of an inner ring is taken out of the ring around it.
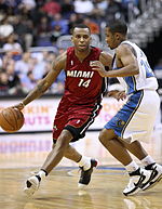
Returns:
[[[130,6],[131,5],[131,6]],[[140,14],[138,0],[1,0],[0,95],[28,93],[63,53],[57,39],[75,24],[90,26],[100,38],[100,24],[113,18],[129,22],[129,11]],[[44,50],[31,51],[33,47]],[[45,51],[45,47],[53,50]],[[48,93],[64,92],[62,73]]]

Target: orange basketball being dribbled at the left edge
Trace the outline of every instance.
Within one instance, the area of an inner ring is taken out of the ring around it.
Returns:
[[[10,133],[18,131],[24,125],[23,113],[13,107],[3,108],[0,112],[0,126]]]

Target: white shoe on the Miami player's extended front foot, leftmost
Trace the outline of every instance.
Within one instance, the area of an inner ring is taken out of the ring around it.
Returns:
[[[24,192],[28,195],[28,196],[31,196],[35,194],[36,191],[38,191],[39,188],[39,185],[40,185],[40,181],[39,179],[33,175],[31,178],[29,178],[27,181],[26,181],[26,186],[24,188]]]

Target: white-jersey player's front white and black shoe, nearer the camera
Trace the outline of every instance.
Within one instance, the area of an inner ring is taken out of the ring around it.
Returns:
[[[150,180],[151,172],[143,168],[138,168],[136,171],[130,173],[130,182],[123,191],[123,194],[125,196],[138,193],[141,190],[140,185],[144,183],[148,183],[148,181]]]

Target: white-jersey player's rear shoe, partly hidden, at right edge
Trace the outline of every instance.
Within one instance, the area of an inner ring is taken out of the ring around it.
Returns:
[[[159,164],[148,165],[145,167],[145,169],[151,171],[151,178],[148,183],[145,183],[140,186],[143,191],[152,188],[162,179],[162,166]]]

